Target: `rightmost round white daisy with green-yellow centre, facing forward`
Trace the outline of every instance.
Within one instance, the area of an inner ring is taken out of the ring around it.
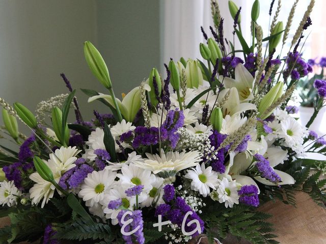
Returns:
[[[280,138],[284,138],[285,144],[289,147],[303,144],[304,128],[292,117],[281,121]]]

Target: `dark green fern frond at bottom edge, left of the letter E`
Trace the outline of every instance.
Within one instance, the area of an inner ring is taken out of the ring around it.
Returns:
[[[63,224],[57,229],[55,238],[67,240],[103,240],[106,243],[111,243],[113,240],[111,228],[108,224],[89,223],[82,219],[77,219],[71,224]]]

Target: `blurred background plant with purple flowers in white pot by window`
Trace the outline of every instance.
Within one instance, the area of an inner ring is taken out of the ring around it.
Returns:
[[[323,102],[326,85],[323,79],[325,78],[326,57],[320,58],[319,63],[315,59],[309,59],[308,63],[313,67],[313,76],[306,76],[297,84],[298,96],[301,98],[300,120],[303,126],[307,126],[318,134],[324,134],[322,120],[326,110]]]

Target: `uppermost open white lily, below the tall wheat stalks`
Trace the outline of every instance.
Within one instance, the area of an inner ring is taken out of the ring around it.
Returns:
[[[226,88],[235,87],[241,102],[252,100],[254,98],[252,93],[254,77],[242,64],[238,64],[235,67],[234,76],[235,79],[224,77],[224,86]]]

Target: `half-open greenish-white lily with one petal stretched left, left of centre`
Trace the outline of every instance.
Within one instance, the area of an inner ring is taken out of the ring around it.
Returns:
[[[88,99],[88,102],[90,103],[100,98],[105,99],[106,102],[108,102],[111,106],[115,107],[111,95],[101,93],[97,96],[90,97]],[[116,101],[124,119],[126,121],[132,122],[139,109],[141,108],[140,87],[137,86],[130,90],[130,92],[122,99],[122,101],[117,98]]]

